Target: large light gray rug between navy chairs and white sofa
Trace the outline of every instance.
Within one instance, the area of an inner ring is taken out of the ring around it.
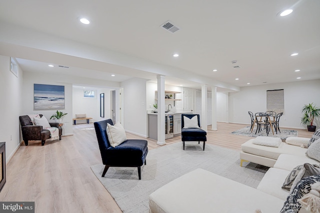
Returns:
[[[150,150],[146,165],[141,167],[141,180],[136,168],[111,167],[104,178],[102,164],[91,166],[91,170],[124,213],[147,213],[152,192],[196,168],[256,188],[268,168],[253,163],[243,166],[238,151],[212,145],[205,145],[202,151],[201,142],[186,142],[183,151],[181,142]]]

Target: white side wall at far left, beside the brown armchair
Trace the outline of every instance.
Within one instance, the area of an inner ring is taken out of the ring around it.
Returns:
[[[0,55],[0,142],[5,142],[6,162],[20,145],[19,115],[22,101],[23,72],[18,67],[18,77],[10,72],[10,57]]]

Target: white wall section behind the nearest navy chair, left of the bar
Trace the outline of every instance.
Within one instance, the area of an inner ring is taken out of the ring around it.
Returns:
[[[146,80],[133,78],[123,81],[123,127],[125,131],[147,136]]]

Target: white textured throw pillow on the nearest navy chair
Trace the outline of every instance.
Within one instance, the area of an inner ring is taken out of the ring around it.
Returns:
[[[109,123],[106,124],[106,135],[112,147],[116,147],[126,141],[124,128],[119,122],[113,126]]]

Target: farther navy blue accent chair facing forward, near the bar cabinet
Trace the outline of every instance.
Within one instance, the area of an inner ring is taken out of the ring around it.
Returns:
[[[200,144],[200,141],[203,141],[203,151],[206,142],[206,132],[203,129],[199,128],[183,128],[184,127],[184,117],[191,119],[193,116],[197,116],[198,126],[200,127],[200,115],[199,114],[181,114],[181,140],[183,143],[185,141],[197,141]]]

